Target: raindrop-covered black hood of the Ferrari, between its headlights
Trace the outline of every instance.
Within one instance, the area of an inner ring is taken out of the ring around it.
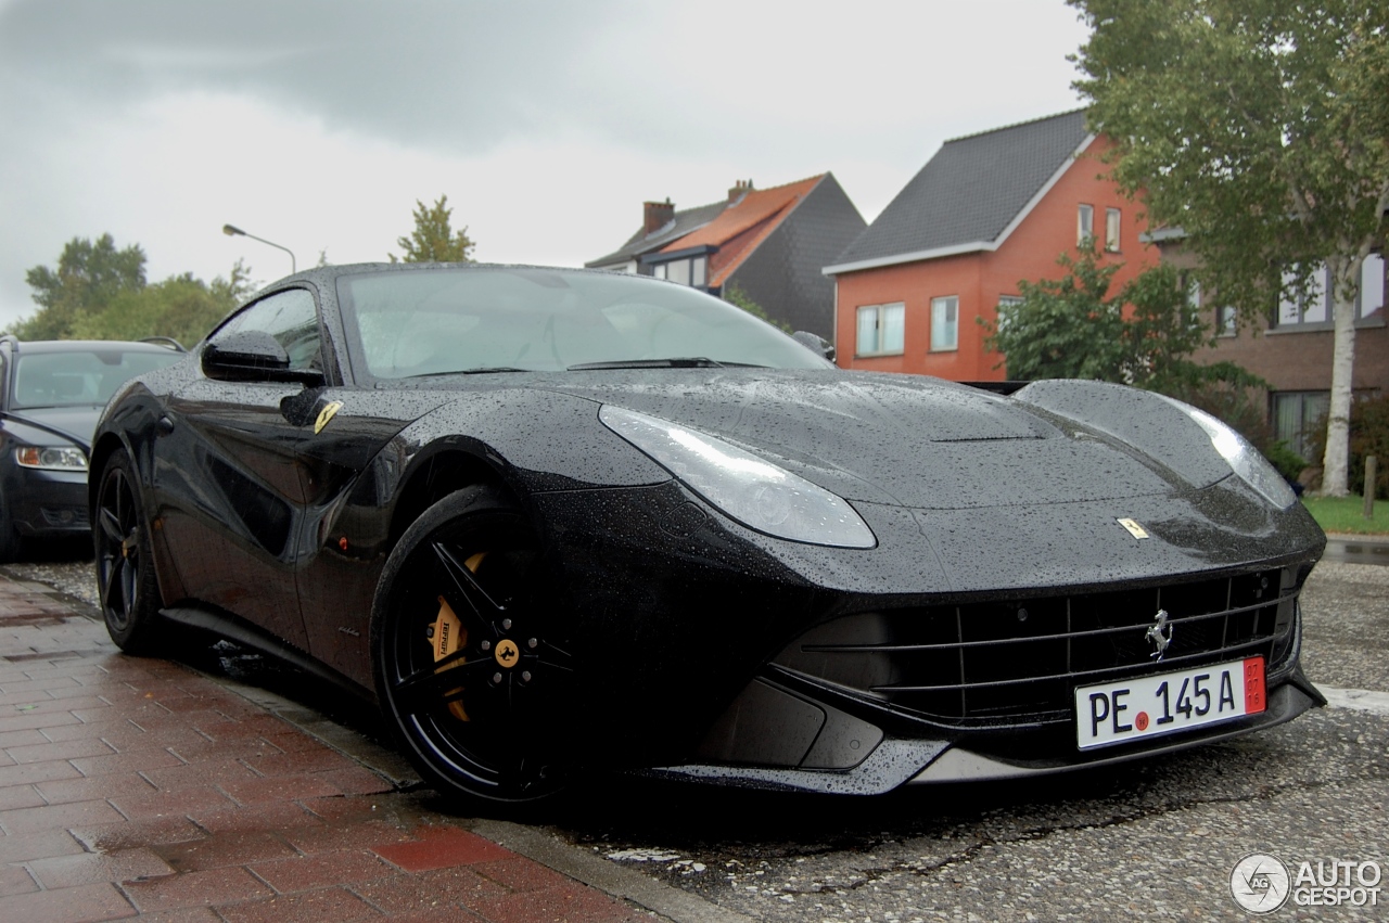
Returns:
[[[1190,487],[1118,440],[921,376],[671,369],[550,390],[720,436],[849,500],[968,509]]]

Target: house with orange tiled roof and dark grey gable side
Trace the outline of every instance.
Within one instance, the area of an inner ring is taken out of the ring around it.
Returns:
[[[740,180],[726,200],[682,211],[669,200],[642,208],[642,228],[621,248],[583,265],[710,294],[736,287],[772,321],[833,336],[833,283],[820,268],[865,228],[833,173],[771,189]]]

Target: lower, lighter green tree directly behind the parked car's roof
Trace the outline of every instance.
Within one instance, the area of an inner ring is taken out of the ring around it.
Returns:
[[[226,278],[217,276],[211,283],[185,272],[138,291],[122,291],[106,310],[79,318],[72,336],[83,340],[168,336],[189,347],[250,294],[249,276],[250,271],[238,260]]]

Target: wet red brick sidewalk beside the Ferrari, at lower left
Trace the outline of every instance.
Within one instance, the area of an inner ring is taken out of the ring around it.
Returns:
[[[0,833],[0,920],[650,919],[3,575]]]

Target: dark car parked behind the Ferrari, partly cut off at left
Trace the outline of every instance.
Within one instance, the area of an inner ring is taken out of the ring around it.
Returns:
[[[29,539],[86,533],[97,415],[133,375],[178,361],[167,343],[0,337],[0,561]]]

